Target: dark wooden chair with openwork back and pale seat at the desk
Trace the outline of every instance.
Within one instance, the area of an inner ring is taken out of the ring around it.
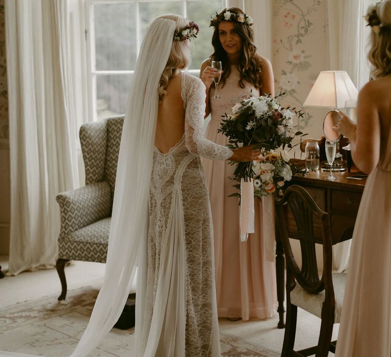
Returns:
[[[274,202],[276,223],[287,265],[287,317],[281,355],[288,357],[315,354],[316,357],[327,357],[328,352],[335,352],[336,348],[337,341],[331,342],[332,328],[340,320],[346,277],[346,274],[332,273],[329,216],[301,186],[290,186],[284,196],[276,198]],[[292,215],[296,223],[297,234],[294,237],[288,236],[286,215]],[[319,232],[319,229],[322,239],[314,235],[314,231]],[[300,242],[301,257],[297,257],[297,261],[290,238]],[[322,244],[323,263],[317,261],[316,243]],[[318,316],[321,327],[316,346],[294,351],[298,307]]]

